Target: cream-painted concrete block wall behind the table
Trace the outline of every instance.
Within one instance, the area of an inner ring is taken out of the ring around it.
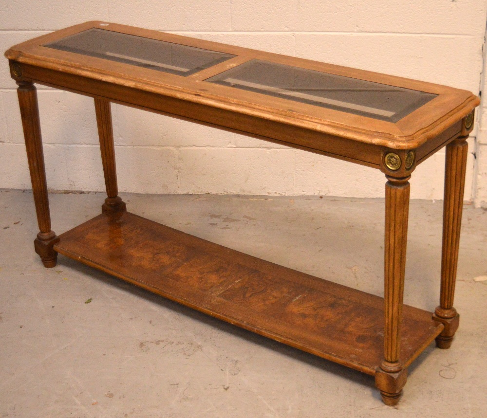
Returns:
[[[487,0],[25,0],[1,5],[0,50],[99,19],[478,94],[486,6]],[[5,60],[0,187],[30,188],[15,87]],[[103,190],[93,100],[43,87],[38,93],[49,187]],[[122,191],[383,196],[385,180],[374,169],[118,105],[112,113]],[[466,200],[475,197],[476,187],[487,200],[487,148],[475,160],[471,138],[470,150]],[[443,170],[441,151],[414,173],[412,197],[442,199]]]

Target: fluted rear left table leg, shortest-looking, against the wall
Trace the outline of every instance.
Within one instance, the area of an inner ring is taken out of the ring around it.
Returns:
[[[107,199],[105,199],[105,203],[102,205],[102,210],[105,213],[125,211],[127,210],[126,205],[118,196],[110,102],[95,97],[94,109],[96,112],[98,136],[100,137],[101,161],[103,163],[103,174],[105,175],[105,186],[107,188],[108,196]]]

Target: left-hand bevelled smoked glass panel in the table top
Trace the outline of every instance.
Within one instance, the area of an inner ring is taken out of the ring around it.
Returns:
[[[97,28],[43,46],[183,76],[235,56]]]

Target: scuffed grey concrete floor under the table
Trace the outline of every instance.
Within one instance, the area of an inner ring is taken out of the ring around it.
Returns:
[[[147,218],[318,277],[382,294],[383,201],[125,195]],[[52,194],[53,229],[103,194]],[[442,202],[412,201],[405,302],[439,297]],[[450,350],[431,345],[404,396],[374,379],[33,250],[32,194],[0,192],[0,417],[486,417],[487,211],[465,205]],[[93,299],[91,303],[85,301]]]

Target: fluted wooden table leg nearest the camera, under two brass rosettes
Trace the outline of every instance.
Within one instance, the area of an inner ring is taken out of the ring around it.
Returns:
[[[409,177],[386,176],[384,246],[384,361],[375,375],[382,400],[395,405],[406,383],[407,369],[399,361],[400,330],[408,237]]]

